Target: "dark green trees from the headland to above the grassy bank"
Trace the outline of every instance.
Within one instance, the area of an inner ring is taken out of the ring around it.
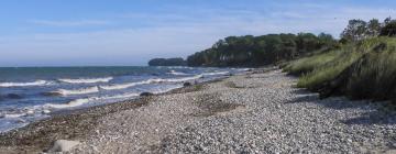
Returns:
[[[307,53],[332,50],[340,43],[359,42],[367,37],[395,36],[396,21],[387,18],[350,20],[341,33],[341,40],[320,33],[268,34],[261,36],[229,36],[215,43],[210,48],[187,57],[188,66],[262,66],[290,61]]]

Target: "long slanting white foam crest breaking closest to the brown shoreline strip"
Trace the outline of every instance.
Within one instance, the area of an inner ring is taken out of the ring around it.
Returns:
[[[116,95],[116,96],[105,96],[105,97],[90,97],[90,98],[81,98],[81,99],[76,99],[73,101],[69,101],[67,103],[46,103],[44,107],[45,108],[53,108],[53,109],[64,109],[64,108],[74,108],[74,107],[79,107],[92,101],[98,101],[98,100],[108,100],[108,99],[123,99],[123,98],[132,98],[132,97],[138,97],[139,94],[123,94],[123,95]]]

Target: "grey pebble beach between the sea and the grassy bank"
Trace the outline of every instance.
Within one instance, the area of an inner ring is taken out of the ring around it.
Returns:
[[[0,136],[3,153],[80,141],[70,153],[366,153],[395,152],[396,113],[382,103],[320,100],[277,70],[92,107]]]

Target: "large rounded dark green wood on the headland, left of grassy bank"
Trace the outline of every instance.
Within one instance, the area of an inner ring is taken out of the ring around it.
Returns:
[[[229,36],[212,47],[188,56],[189,66],[262,66],[290,61],[299,55],[332,48],[338,42],[329,34],[268,34]]]

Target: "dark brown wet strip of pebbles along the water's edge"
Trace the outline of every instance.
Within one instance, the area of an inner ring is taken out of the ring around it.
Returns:
[[[95,124],[98,123],[97,120],[101,117],[146,106],[154,97],[199,90],[205,85],[221,81],[229,77],[180,87],[153,96],[140,96],[139,98],[119,102],[53,112],[50,118],[0,133],[0,153],[40,153],[50,150],[53,142],[59,139],[82,140],[87,138],[89,130],[92,130]]]

